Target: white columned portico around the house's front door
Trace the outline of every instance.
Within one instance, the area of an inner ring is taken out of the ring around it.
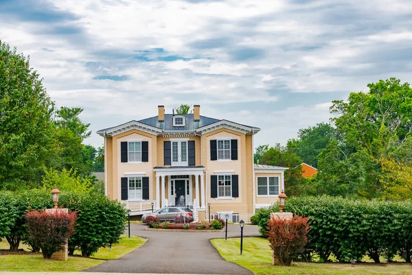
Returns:
[[[194,201],[197,209],[206,208],[204,166],[159,166],[153,170],[157,209],[182,203],[192,206]]]

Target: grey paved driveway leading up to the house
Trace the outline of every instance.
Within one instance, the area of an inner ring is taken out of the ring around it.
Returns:
[[[107,261],[87,272],[122,272],[155,274],[236,274],[249,270],[222,259],[210,239],[224,238],[225,232],[145,231],[146,225],[134,223],[131,233],[148,238],[141,248],[120,259]],[[228,237],[240,236],[239,225],[228,225]],[[244,236],[260,236],[258,227],[244,226]]]

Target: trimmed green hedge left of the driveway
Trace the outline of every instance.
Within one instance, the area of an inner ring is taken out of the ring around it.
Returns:
[[[91,256],[99,248],[117,243],[124,233],[127,219],[122,203],[95,192],[61,192],[58,205],[76,211],[75,233],[69,239],[69,252],[81,250]],[[34,251],[39,248],[30,243],[25,214],[29,210],[52,208],[49,190],[27,190],[20,193],[0,192],[0,237],[8,240],[11,250],[19,243],[28,243]]]

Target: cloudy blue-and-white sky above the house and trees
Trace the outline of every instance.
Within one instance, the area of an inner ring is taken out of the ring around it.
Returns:
[[[402,0],[0,0],[0,39],[58,106],[84,109],[94,146],[99,129],[181,103],[285,144],[350,91],[412,81]]]

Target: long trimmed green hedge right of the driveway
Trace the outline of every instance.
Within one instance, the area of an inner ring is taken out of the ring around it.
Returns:
[[[270,212],[277,204],[260,209],[253,216],[266,236]],[[395,254],[408,263],[412,254],[411,201],[355,201],[341,197],[291,197],[284,212],[310,219],[306,248],[328,261],[334,254],[341,262],[361,261],[364,255],[379,263],[379,256],[391,260]]]

